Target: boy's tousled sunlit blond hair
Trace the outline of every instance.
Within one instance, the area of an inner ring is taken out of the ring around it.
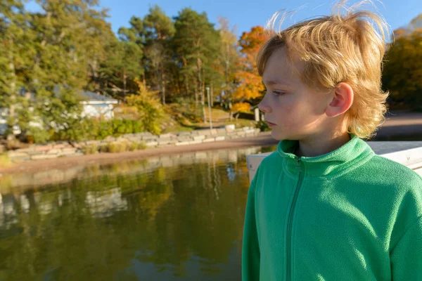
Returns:
[[[331,90],[346,82],[354,91],[353,104],[344,116],[347,129],[359,138],[371,138],[383,124],[387,111],[388,92],[381,89],[381,72],[388,25],[376,13],[355,11],[368,1],[352,6],[341,15],[345,2],[334,6],[333,15],[305,20],[276,32],[260,49],[257,67],[262,76],[271,54],[286,47],[290,62],[295,54],[305,63],[300,77],[308,86]],[[271,18],[267,29],[271,26],[274,30],[278,15]]]

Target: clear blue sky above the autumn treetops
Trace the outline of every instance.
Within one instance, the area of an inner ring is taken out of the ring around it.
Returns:
[[[321,0],[100,0],[103,7],[110,8],[108,22],[117,33],[119,27],[128,27],[132,15],[143,17],[148,8],[157,4],[170,17],[177,15],[182,8],[190,7],[198,12],[205,11],[210,22],[217,23],[217,18],[229,18],[231,25],[237,26],[237,34],[250,30],[255,25],[265,25],[271,15],[281,9],[293,11],[302,8],[286,25],[316,15],[328,15],[331,4],[335,1]],[[350,4],[355,3],[354,0]],[[392,30],[407,25],[412,18],[422,13],[421,0],[384,0],[383,4],[376,2],[378,11],[384,16]],[[27,5],[30,10],[37,10],[34,1]]]

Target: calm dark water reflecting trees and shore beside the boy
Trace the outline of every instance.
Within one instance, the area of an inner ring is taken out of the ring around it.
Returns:
[[[2,179],[0,280],[241,280],[245,155],[265,151]]]

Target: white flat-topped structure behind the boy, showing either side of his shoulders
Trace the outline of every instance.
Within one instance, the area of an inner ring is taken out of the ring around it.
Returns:
[[[377,155],[399,162],[422,175],[422,141],[369,141],[368,144]],[[246,155],[250,181],[262,159],[270,154]]]

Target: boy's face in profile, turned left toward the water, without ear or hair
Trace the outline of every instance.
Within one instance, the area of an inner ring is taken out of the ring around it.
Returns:
[[[285,48],[275,51],[267,60],[262,81],[267,93],[259,108],[265,121],[275,124],[271,136],[276,140],[302,140],[324,132],[328,117],[324,114],[330,95],[310,89],[300,79],[303,63],[290,66]]]

